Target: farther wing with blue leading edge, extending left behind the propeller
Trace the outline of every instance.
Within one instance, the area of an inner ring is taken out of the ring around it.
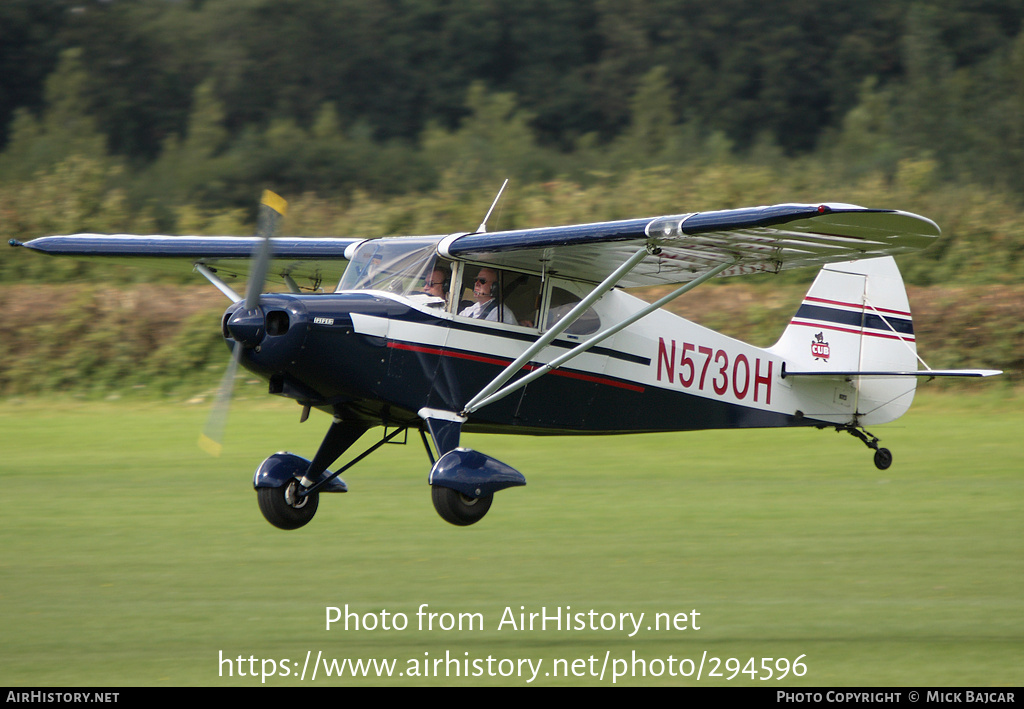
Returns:
[[[270,278],[316,288],[332,288],[345,270],[345,249],[360,239],[273,238]],[[151,270],[181,273],[182,262],[202,265],[224,282],[245,279],[261,237],[168,237],[75,234],[42,237],[11,246],[54,256],[99,258]]]

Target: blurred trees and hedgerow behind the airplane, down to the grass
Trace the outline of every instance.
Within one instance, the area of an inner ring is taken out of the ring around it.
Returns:
[[[930,363],[1013,381],[1022,19],[1015,0],[7,0],[0,232],[246,234],[270,187],[287,234],[450,233],[505,177],[498,227],[899,208],[944,233],[900,261]],[[768,343],[809,276],[678,306]],[[204,385],[222,303],[148,278],[6,251],[0,393]]]

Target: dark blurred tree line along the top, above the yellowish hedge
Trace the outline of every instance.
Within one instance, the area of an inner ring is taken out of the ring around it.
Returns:
[[[711,143],[848,173],[924,155],[1019,192],[1022,19],[1015,0],[6,0],[0,179],[94,140],[136,202],[182,180],[240,206],[271,177],[393,195],[457,163],[583,179]]]

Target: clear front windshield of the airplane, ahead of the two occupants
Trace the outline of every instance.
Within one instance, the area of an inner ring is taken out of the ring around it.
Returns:
[[[374,239],[359,244],[338,284],[339,291],[424,292],[437,256],[439,237]]]

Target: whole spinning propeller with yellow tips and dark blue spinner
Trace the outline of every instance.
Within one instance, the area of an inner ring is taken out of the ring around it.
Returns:
[[[270,268],[270,237],[276,231],[287,209],[288,203],[281,197],[269,190],[263,192],[256,218],[256,236],[262,237],[262,240],[253,252],[245,303],[231,314],[226,324],[227,333],[234,340],[231,359],[227,364],[227,371],[224,372],[224,378],[220,380],[220,388],[217,390],[217,399],[214,401],[210,418],[199,436],[199,447],[212,456],[220,455],[227,411],[231,404],[234,378],[242,354],[247,348],[251,349],[258,345],[266,334],[259,296],[263,292],[263,284]]]

